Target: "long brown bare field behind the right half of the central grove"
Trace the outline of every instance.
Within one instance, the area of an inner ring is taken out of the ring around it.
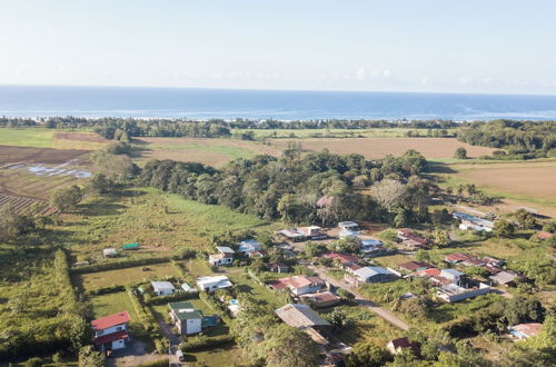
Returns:
[[[328,149],[340,155],[359,153],[367,159],[379,159],[387,155],[400,156],[409,149],[419,151],[427,159],[450,159],[459,147],[467,149],[469,157],[489,155],[495,150],[470,146],[454,138],[309,138],[274,139],[271,143],[277,149],[285,149],[292,141],[301,142],[306,151]]]

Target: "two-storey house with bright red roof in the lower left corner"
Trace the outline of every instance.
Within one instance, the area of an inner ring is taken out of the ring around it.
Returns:
[[[105,316],[91,321],[95,331],[95,346],[100,351],[117,350],[126,347],[129,339],[127,323],[128,311]]]

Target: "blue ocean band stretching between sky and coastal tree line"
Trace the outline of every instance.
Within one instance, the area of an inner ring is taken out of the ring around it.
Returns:
[[[556,96],[3,86],[0,116],[552,120]]]

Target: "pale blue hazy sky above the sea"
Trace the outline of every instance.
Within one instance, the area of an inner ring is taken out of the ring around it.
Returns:
[[[556,1],[0,0],[0,85],[556,95]]]

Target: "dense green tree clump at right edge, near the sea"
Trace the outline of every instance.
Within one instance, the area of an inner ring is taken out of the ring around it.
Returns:
[[[555,121],[495,120],[475,122],[459,130],[458,139],[474,146],[505,149],[496,158],[556,157]]]

